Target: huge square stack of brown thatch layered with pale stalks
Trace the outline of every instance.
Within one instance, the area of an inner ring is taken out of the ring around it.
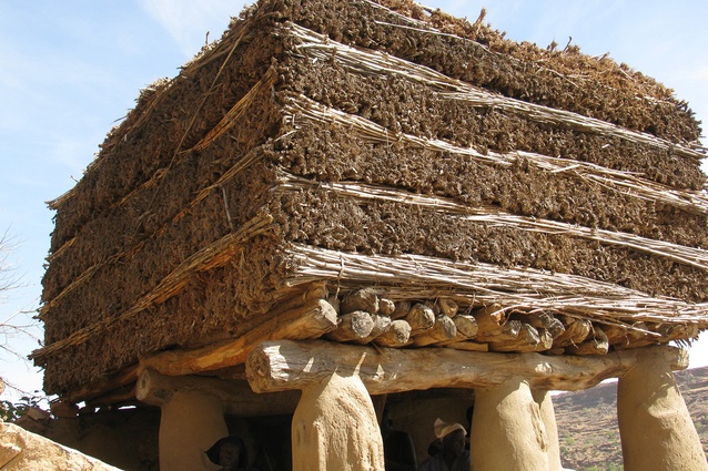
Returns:
[[[708,326],[699,134],[577,48],[408,0],[262,0],[52,203],[45,391],[236,337],[322,280],[585,321],[610,349],[688,340]]]

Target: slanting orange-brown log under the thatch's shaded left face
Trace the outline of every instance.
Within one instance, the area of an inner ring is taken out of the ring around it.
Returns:
[[[313,299],[283,311],[235,340],[188,351],[164,351],[140,360],[140,371],[181,376],[231,367],[245,361],[254,346],[265,340],[316,338],[337,327],[336,310],[324,299]]]

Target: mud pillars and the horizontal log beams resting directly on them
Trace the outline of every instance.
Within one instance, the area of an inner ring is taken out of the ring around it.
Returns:
[[[136,397],[162,408],[162,469],[209,469],[203,454],[226,433],[224,413],[294,411],[293,469],[383,470],[376,416],[386,395],[458,388],[475,392],[476,471],[557,471],[559,446],[547,391],[587,389],[614,377],[620,381],[625,469],[708,470],[671,375],[687,366],[685,350],[666,346],[554,357],[279,340],[252,349],[247,385],[143,369]]]

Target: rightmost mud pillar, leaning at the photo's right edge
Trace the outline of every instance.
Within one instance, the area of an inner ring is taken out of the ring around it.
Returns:
[[[708,470],[669,362],[648,350],[619,379],[617,416],[625,471]]]

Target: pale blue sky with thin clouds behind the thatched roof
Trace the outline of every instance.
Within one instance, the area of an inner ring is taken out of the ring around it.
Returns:
[[[656,78],[708,122],[708,3],[666,1],[427,1],[507,38],[565,45],[569,37],[588,54],[609,52],[618,62]],[[108,131],[133,107],[139,91],[174,76],[209,40],[221,37],[242,1],[0,0],[0,234],[17,250],[8,260],[22,288],[0,298],[0,320],[38,307],[42,264],[53,213],[44,202],[74,185]],[[705,140],[704,140],[705,142]],[[12,318],[24,324],[28,316]],[[34,330],[41,337],[41,330]],[[0,339],[1,341],[2,339]],[[690,351],[691,366],[708,365],[708,340]],[[37,348],[6,338],[21,355]],[[0,376],[24,390],[41,376],[0,352]],[[7,393],[6,393],[7,395]]]

